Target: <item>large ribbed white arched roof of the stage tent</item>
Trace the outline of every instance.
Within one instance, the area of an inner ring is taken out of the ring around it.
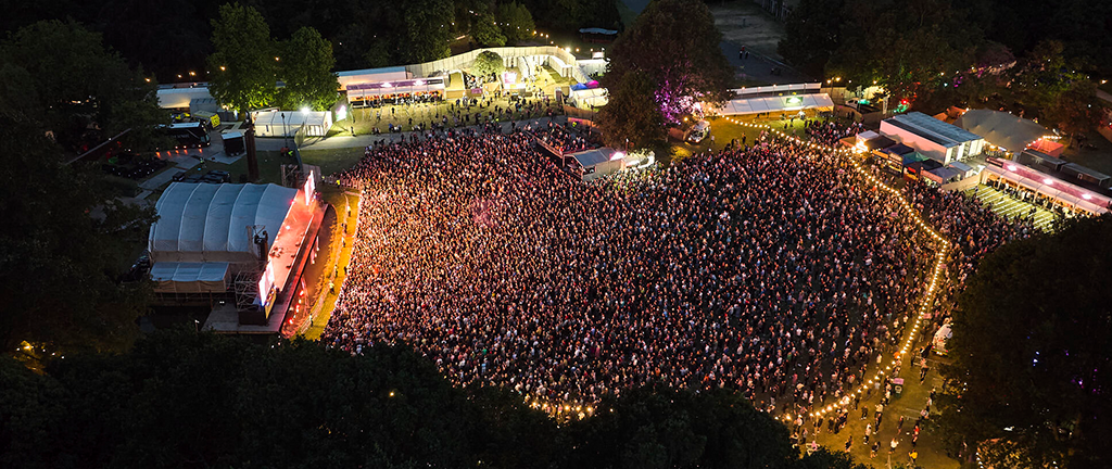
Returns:
[[[257,261],[252,230],[266,230],[272,243],[295,196],[297,189],[275,184],[173,182],[155,206],[159,219],[147,241],[151,260]]]

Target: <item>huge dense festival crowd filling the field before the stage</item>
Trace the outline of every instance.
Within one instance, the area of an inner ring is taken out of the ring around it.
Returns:
[[[835,157],[762,138],[584,184],[534,138],[375,146],[341,174],[364,201],[325,340],[546,401],[657,381],[768,410],[844,399],[898,340],[930,256]]]

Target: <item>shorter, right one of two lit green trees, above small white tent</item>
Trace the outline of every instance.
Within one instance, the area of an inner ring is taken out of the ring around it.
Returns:
[[[281,43],[282,58],[278,70],[285,87],[278,91],[282,109],[308,106],[324,111],[338,99],[339,82],[332,66],[332,44],[312,28],[301,28]]]

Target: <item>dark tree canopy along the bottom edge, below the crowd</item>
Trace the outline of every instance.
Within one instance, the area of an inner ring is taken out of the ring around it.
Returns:
[[[726,390],[634,390],[557,427],[406,347],[364,351],[179,331],[46,375],[0,359],[0,466],[856,469],[801,460],[783,425]]]

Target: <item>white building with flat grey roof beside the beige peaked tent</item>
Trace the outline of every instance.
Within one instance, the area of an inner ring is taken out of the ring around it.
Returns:
[[[984,149],[981,136],[922,112],[909,112],[881,121],[881,133],[942,164],[969,160]]]

